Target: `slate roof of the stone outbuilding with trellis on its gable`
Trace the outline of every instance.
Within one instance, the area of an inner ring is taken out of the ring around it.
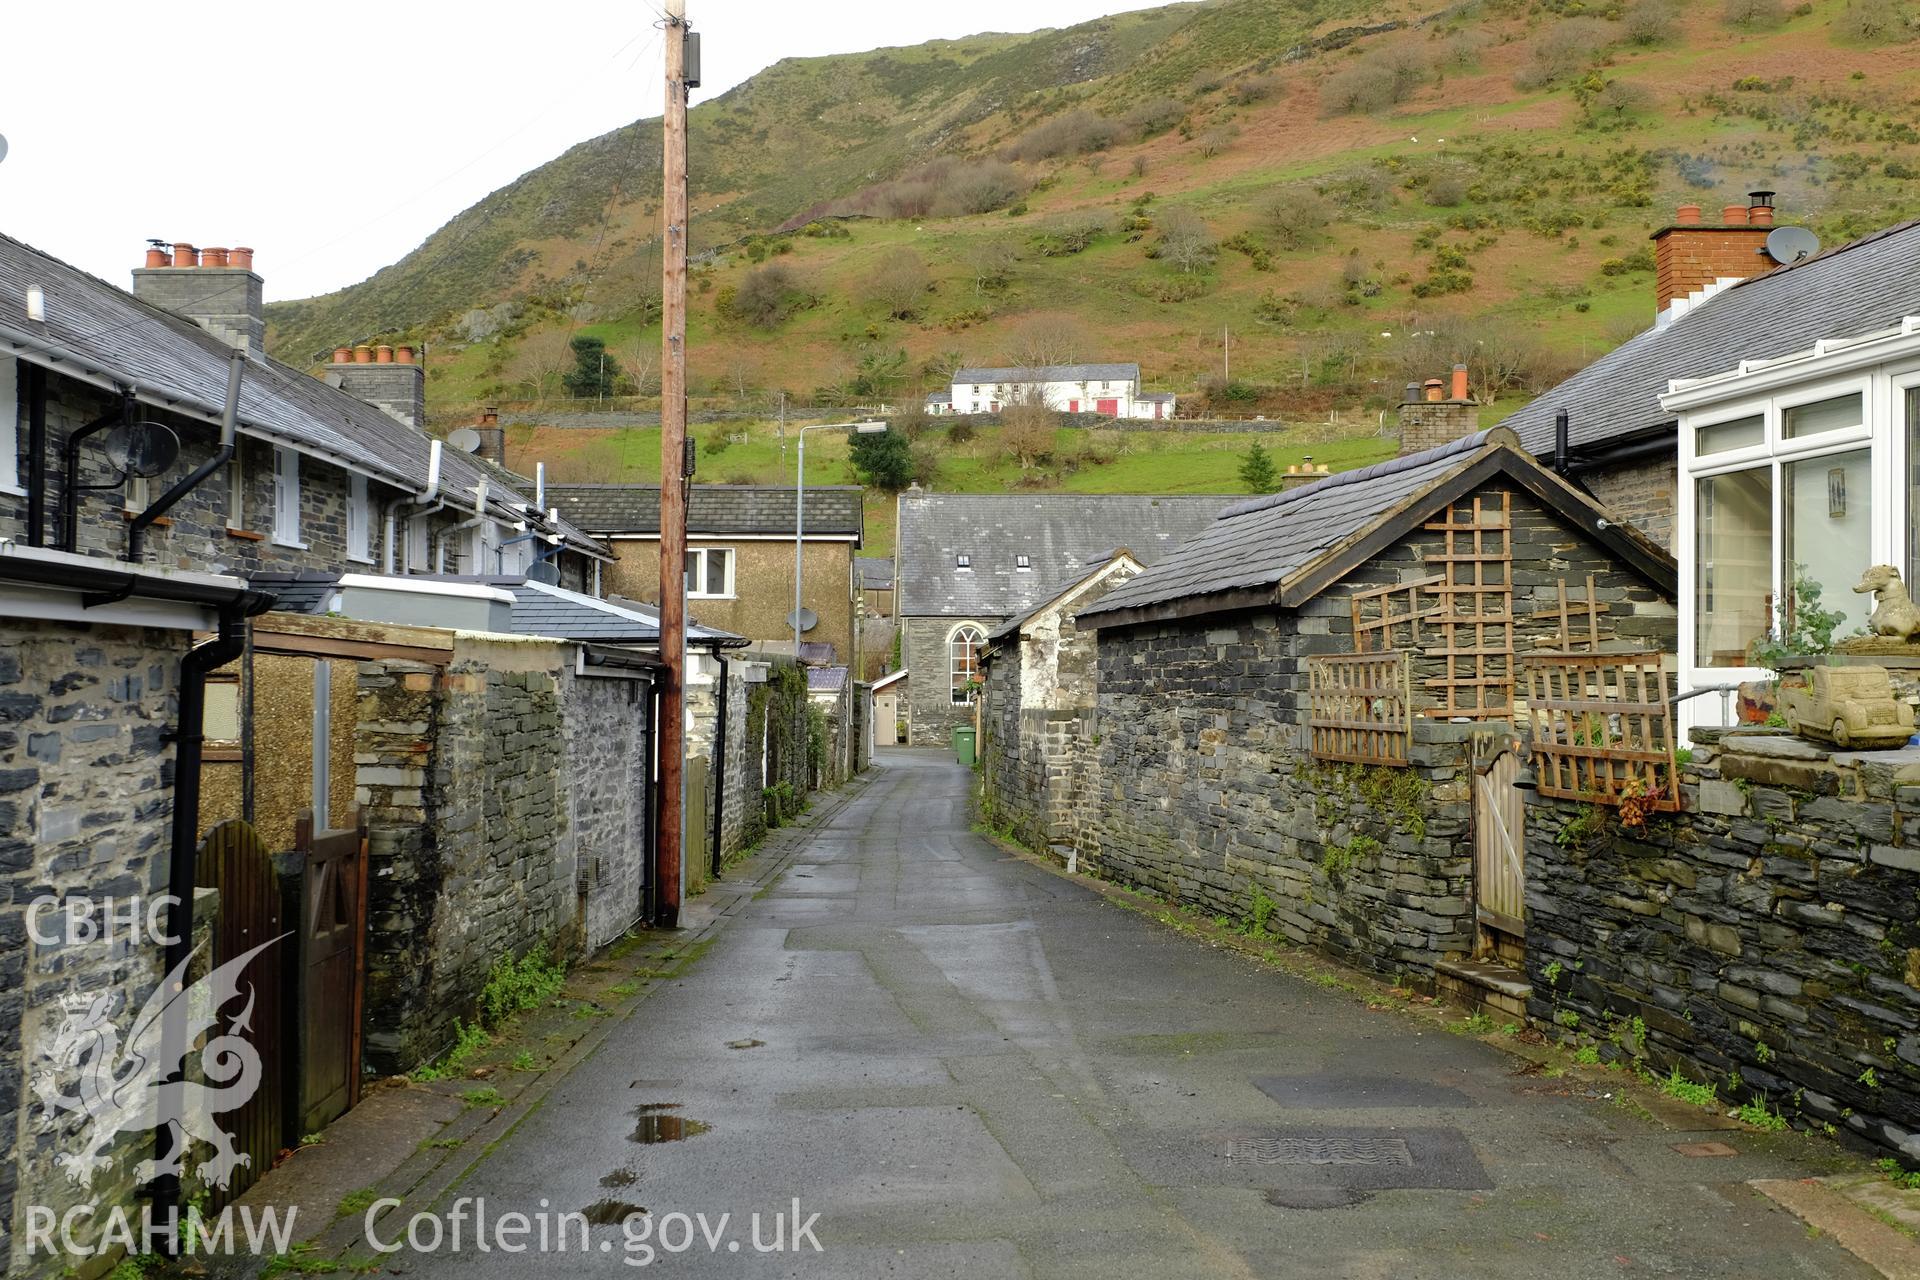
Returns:
[[[1645,535],[1619,522],[1599,520],[1592,499],[1576,493],[1532,459],[1519,453],[1519,441],[1505,428],[1413,453],[1359,470],[1338,472],[1317,484],[1271,497],[1236,503],[1219,514],[1198,537],[1150,566],[1131,581],[1114,587],[1079,610],[1081,622],[1127,622],[1154,616],[1169,604],[1181,612],[1204,614],[1202,597],[1217,597],[1219,608],[1254,603],[1296,604],[1286,599],[1315,595],[1338,578],[1346,558],[1365,560],[1377,543],[1411,532],[1434,503],[1421,505],[1448,482],[1488,474],[1498,468],[1523,482],[1528,491],[1563,510],[1592,518],[1594,537],[1620,551],[1667,591],[1672,591],[1672,557],[1653,547]],[[1402,522],[1405,528],[1402,530]],[[1582,522],[1586,524],[1586,522]],[[1327,583],[1317,583],[1327,578]],[[1304,583],[1304,585],[1302,585]],[[1131,614],[1116,618],[1116,614]]]

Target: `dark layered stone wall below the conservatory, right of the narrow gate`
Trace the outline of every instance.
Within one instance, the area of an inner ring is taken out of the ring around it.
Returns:
[[[1920,1159],[1920,754],[1693,743],[1644,831],[1528,802],[1528,1013]]]

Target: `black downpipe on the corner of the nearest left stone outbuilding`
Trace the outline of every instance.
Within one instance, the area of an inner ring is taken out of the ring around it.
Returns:
[[[194,946],[194,879],[200,854],[200,762],[205,747],[207,676],[246,652],[248,614],[255,612],[257,597],[244,597],[221,608],[219,633],[194,645],[180,658],[179,708],[180,720],[173,731],[173,831],[167,862],[167,948],[161,975],[171,975],[192,954]],[[161,1061],[177,1063],[186,1055],[186,1009],[179,1017],[169,1009],[161,1025]],[[177,1044],[179,1042],[179,1044]],[[154,1132],[154,1159],[163,1159],[173,1140],[163,1125]],[[154,1180],[154,1217],[175,1221],[180,1209],[180,1176],[161,1174]]]

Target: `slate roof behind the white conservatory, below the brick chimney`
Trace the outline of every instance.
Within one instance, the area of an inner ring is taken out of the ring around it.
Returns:
[[[1665,430],[1670,378],[1805,351],[1820,338],[1889,328],[1920,315],[1920,221],[1901,223],[1741,280],[1670,324],[1615,347],[1505,420],[1536,455],[1553,453],[1553,415],[1569,413],[1576,451],[1603,461],[1611,441]]]

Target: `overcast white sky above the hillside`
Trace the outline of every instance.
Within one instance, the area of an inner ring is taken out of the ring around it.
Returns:
[[[660,111],[647,0],[12,4],[0,232],[115,284],[146,238],[353,284],[574,142]],[[687,0],[712,98],[789,56],[1062,27],[1139,0]]]

